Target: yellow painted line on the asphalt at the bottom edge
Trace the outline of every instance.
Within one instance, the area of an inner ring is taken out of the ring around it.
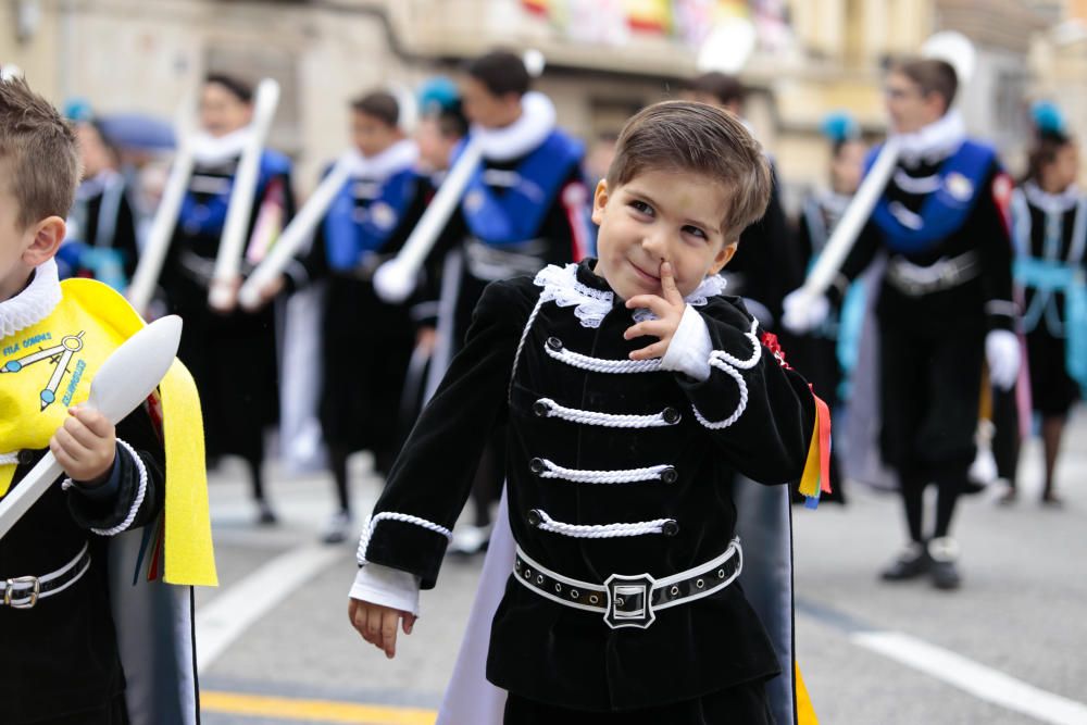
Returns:
[[[418,708],[217,691],[201,692],[200,709],[207,713],[351,725],[434,725],[438,716],[433,710]]]

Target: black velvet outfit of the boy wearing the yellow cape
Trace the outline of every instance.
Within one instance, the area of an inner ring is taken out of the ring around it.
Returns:
[[[154,521],[164,499],[162,441],[143,408],[117,425],[147,470],[143,501],[129,528]],[[24,451],[14,489],[45,451]],[[0,541],[0,582],[41,576],[67,564],[90,542],[90,567],[75,584],[33,609],[0,607],[0,722],[5,725],[50,720],[104,708],[125,688],[117,652],[107,571],[108,543],[89,529],[110,529],[127,517],[139,488],[139,471],[117,446],[118,489],[102,500],[58,480]]]

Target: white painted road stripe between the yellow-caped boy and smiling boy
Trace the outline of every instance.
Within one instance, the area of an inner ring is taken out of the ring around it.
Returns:
[[[197,610],[197,671],[202,672],[258,620],[342,555],[309,543],[276,557]]]

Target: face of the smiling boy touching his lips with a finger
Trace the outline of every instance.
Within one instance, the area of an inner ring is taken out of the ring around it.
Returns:
[[[727,202],[720,183],[690,172],[649,171],[614,189],[600,182],[596,273],[622,299],[662,295],[661,263],[670,262],[686,297],[736,252],[723,228]]]

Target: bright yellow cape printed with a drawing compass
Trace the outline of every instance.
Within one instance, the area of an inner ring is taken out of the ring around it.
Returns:
[[[92,279],[61,283],[45,320],[0,339],[0,453],[42,449],[67,408],[86,401],[101,363],[145,326],[113,289]],[[165,580],[215,586],[203,422],[192,376],[177,360],[159,385],[166,451]],[[0,497],[16,465],[0,464]]]

